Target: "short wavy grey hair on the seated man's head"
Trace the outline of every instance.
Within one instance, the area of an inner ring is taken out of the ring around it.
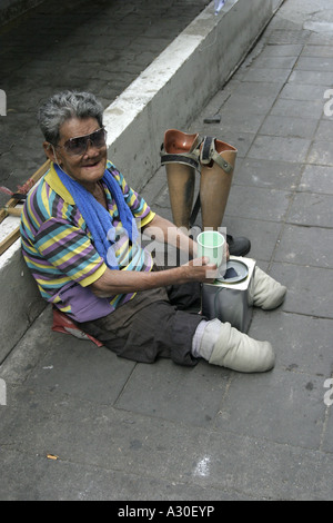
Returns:
[[[54,146],[60,139],[60,127],[71,118],[95,118],[102,127],[103,106],[91,92],[62,91],[53,95],[38,111],[41,131]]]

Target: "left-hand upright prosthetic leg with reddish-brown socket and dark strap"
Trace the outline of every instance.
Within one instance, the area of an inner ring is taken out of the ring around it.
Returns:
[[[161,147],[161,165],[167,169],[173,223],[186,229],[190,228],[200,141],[198,134],[169,129]]]

